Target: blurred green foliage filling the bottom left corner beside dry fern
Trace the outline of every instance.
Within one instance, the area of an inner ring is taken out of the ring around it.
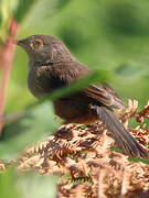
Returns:
[[[40,176],[35,173],[19,174],[9,168],[0,174],[1,198],[55,198],[57,176]]]

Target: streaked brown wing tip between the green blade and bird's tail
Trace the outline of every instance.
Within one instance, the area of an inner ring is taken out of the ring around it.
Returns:
[[[106,84],[100,86],[91,85],[86,89],[82,90],[81,95],[87,97],[91,102],[94,101],[97,105],[104,105],[116,109],[126,108],[115,90]]]

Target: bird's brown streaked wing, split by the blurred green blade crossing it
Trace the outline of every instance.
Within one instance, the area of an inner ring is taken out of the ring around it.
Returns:
[[[81,64],[76,65],[76,63],[65,63],[65,65],[53,65],[52,67],[45,66],[44,69],[42,67],[42,73],[43,70],[44,74],[42,74],[42,77],[44,75],[46,76],[46,78],[43,79],[50,79],[46,84],[47,87],[51,86],[51,88],[53,89],[65,87],[76,81],[77,79],[81,79],[82,77],[91,74],[89,68]],[[73,94],[65,98],[73,97],[75,97],[75,99],[77,98],[79,100],[89,101],[91,103],[94,102],[98,106],[104,105],[117,109],[125,108],[125,105],[121,101],[121,99],[117,96],[115,90],[110,88],[107,84],[103,84],[99,86],[91,85],[87,88],[78,91],[77,94]]]

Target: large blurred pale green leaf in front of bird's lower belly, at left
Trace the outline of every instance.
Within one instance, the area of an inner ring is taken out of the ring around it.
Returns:
[[[46,139],[57,125],[51,102],[29,108],[23,118],[3,130],[1,158],[17,157],[25,146]]]

